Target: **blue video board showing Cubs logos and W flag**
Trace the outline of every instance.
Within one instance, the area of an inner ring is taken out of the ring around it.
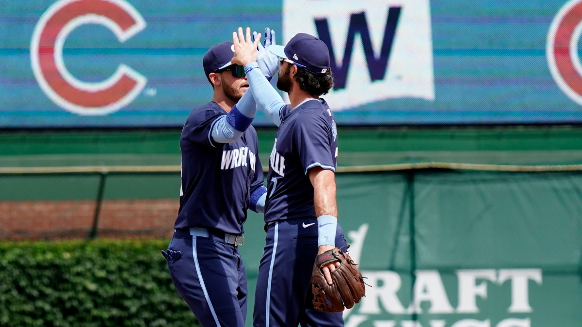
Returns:
[[[582,123],[582,0],[0,5],[0,128],[182,126],[239,26],[324,40],[338,125]]]

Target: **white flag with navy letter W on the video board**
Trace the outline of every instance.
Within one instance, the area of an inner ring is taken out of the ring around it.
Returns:
[[[329,48],[334,110],[396,98],[434,101],[429,0],[284,0],[283,42],[303,32]]]

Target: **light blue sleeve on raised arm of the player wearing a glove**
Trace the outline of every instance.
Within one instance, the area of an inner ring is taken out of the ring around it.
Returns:
[[[251,67],[253,62],[247,63],[244,69]],[[255,63],[256,64],[256,63]],[[285,101],[281,95],[275,91],[271,83],[265,78],[260,69],[251,69],[247,72],[247,80],[249,80],[249,90],[253,90],[253,97],[257,101],[258,108],[271,119],[275,125],[281,125],[281,108],[285,106]]]

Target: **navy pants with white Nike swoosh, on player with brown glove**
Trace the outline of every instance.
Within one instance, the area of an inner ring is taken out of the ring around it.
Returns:
[[[268,225],[255,293],[255,327],[343,326],[342,312],[315,311],[311,303],[311,274],[318,250],[317,236],[315,218]],[[339,224],[335,245],[346,251],[346,240]]]

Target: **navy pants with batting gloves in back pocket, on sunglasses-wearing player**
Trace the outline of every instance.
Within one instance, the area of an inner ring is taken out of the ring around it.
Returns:
[[[172,282],[204,327],[244,327],[247,279],[238,247],[224,235],[192,235],[178,230],[168,250],[182,252],[168,260]]]

